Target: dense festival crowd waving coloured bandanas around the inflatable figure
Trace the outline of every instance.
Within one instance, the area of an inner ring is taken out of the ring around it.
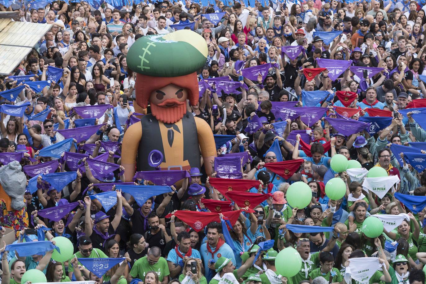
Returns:
[[[423,2],[49,2],[0,5],[52,25],[0,79],[0,162],[18,161],[27,180],[22,210],[2,199],[0,238],[8,227],[17,244],[62,236],[73,255],[2,243],[3,284],[30,269],[96,284],[425,283]],[[219,158],[210,176],[202,166],[171,184],[126,180],[121,141],[143,115],[127,52],[180,29],[208,46],[199,102],[186,107],[211,127]],[[338,154],[360,166],[336,171]],[[387,176],[372,185],[377,168]],[[346,189],[333,200],[336,177]],[[300,181],[305,208],[287,201]],[[200,227],[204,212],[220,214]],[[384,224],[377,238],[363,226],[371,215]],[[288,277],[276,261],[287,247],[302,259]]]

